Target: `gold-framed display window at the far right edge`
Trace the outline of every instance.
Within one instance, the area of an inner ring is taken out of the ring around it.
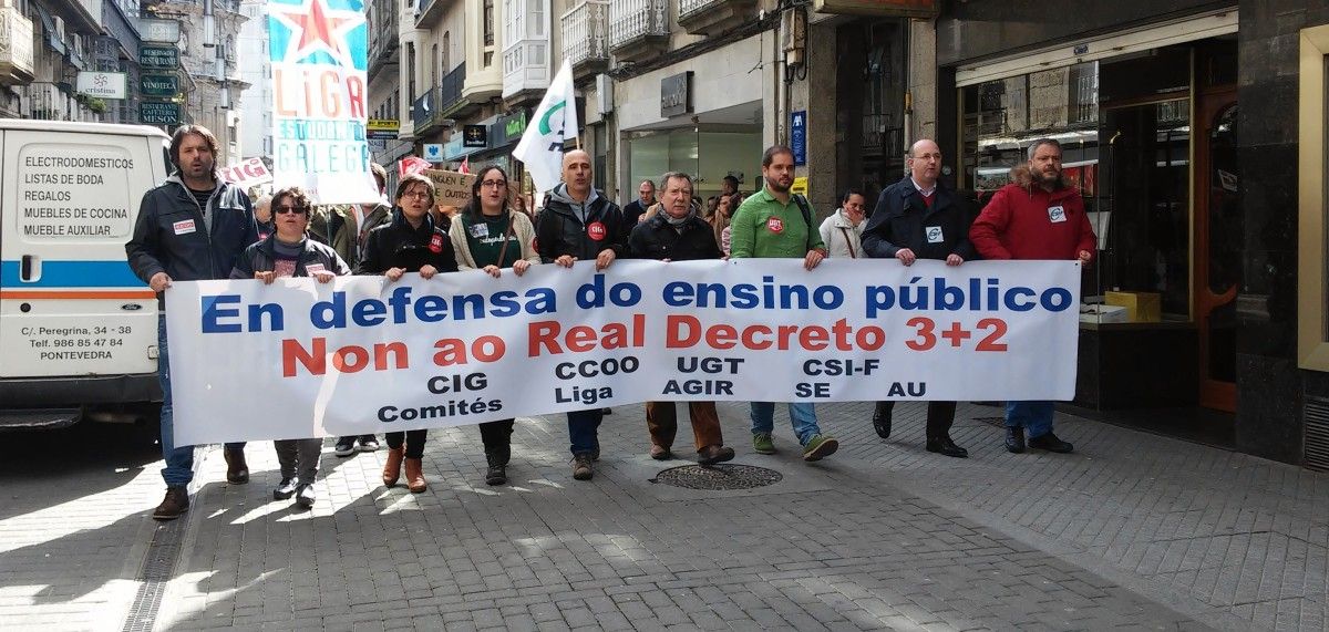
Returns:
[[[1329,370],[1329,291],[1326,291],[1325,147],[1329,116],[1329,25],[1301,31],[1297,244],[1297,365]]]

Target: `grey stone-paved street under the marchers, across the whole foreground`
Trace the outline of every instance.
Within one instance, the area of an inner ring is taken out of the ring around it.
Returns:
[[[920,404],[889,441],[870,404],[835,404],[840,453],[804,463],[783,412],[773,457],[744,405],[720,413],[734,463],[779,482],[653,482],[690,462],[651,461],[641,406],[619,406],[591,482],[561,416],[518,422],[500,487],[474,428],[431,433],[419,495],[383,487],[383,451],[330,439],[312,511],[271,501],[254,443],[249,485],[207,449],[193,509],[158,524],[153,449],[33,439],[0,469],[0,628],[1326,628],[1326,474],[1062,413],[1075,454],[1007,454],[999,409],[974,404],[953,430],[969,459],[924,451]]]

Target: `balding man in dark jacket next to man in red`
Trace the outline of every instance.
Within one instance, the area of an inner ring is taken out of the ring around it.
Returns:
[[[924,138],[909,147],[909,175],[890,185],[877,198],[877,208],[863,231],[863,250],[870,258],[900,259],[913,266],[917,259],[937,259],[946,266],[960,266],[977,259],[969,243],[969,224],[974,222],[969,204],[946,189],[941,174],[941,149]],[[881,438],[890,437],[893,401],[878,401],[872,426]],[[964,458],[969,451],[950,439],[956,421],[956,402],[928,402],[928,451]]]

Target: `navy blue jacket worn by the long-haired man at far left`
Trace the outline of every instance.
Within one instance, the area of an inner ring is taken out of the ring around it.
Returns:
[[[203,226],[203,210],[179,174],[166,178],[138,204],[134,234],[125,244],[129,267],[144,283],[157,272],[177,281],[230,277],[235,258],[258,240],[254,207],[243,190],[218,181],[207,215]]]

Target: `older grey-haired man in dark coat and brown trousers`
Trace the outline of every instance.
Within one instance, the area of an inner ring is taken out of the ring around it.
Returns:
[[[637,224],[627,240],[627,250],[638,259],[661,262],[687,262],[694,259],[720,259],[724,256],[715,243],[715,230],[699,218],[692,207],[692,177],[670,171],[661,178],[661,211]],[[696,461],[714,465],[734,458],[734,449],[724,447],[720,417],[714,401],[687,404],[696,441]],[[664,461],[672,457],[674,434],[678,432],[678,412],[671,401],[646,402],[646,429],[651,434],[651,458]]]

